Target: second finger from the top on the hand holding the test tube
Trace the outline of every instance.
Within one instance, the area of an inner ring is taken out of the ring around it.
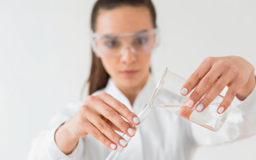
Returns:
[[[97,100],[91,105],[97,106],[95,110],[115,124],[126,135],[132,137],[135,134],[130,123],[126,122],[113,108],[109,107],[103,101]],[[87,116],[90,115],[88,114]]]

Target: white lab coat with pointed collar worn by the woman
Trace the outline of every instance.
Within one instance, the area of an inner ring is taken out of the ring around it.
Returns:
[[[154,91],[156,83],[152,76],[136,97],[133,106],[117,88],[112,79],[100,90],[111,94],[133,113],[138,114]],[[94,93],[97,94],[100,91]],[[163,108],[154,108],[145,119],[135,136],[118,159],[121,160],[189,160],[198,145],[214,145],[242,139],[256,133],[256,89],[244,100],[235,98],[228,118],[218,132],[212,132]],[[63,122],[73,117],[82,102],[69,105],[62,113],[54,116],[49,129],[32,141],[29,160],[74,159],[104,160],[111,149],[92,135],[81,138],[70,155],[61,152],[54,141],[54,133]],[[120,133],[120,135],[122,135]]]

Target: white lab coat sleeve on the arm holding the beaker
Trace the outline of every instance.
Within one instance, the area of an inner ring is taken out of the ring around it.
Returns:
[[[256,134],[255,122],[256,87],[243,101],[235,97],[231,103],[226,122],[219,131],[213,132],[194,123],[191,123],[191,131],[197,145],[217,145]]]

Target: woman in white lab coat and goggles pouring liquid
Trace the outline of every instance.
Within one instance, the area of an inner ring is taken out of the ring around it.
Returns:
[[[191,108],[212,86],[196,107],[201,112],[228,86],[217,111],[223,113],[235,98],[239,105],[233,106],[235,112],[230,114],[239,121],[227,120],[219,132],[212,132],[156,109],[135,135],[131,124],[140,123],[136,114],[156,86],[150,75],[151,51],[157,43],[154,6],[150,0],[98,0],[92,10],[91,28],[95,34],[90,96],[52,119],[52,128],[34,140],[29,159],[105,159],[118,145],[126,147],[120,159],[183,160],[191,159],[197,145],[224,143],[256,133],[254,67],[241,57],[228,56],[206,58],[183,85],[181,94],[187,95],[197,86],[186,103]],[[134,136],[129,145],[122,133]]]

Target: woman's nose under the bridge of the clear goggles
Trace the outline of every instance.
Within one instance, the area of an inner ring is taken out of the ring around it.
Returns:
[[[124,46],[121,50],[121,61],[126,64],[131,64],[137,60],[135,50],[132,46]]]

